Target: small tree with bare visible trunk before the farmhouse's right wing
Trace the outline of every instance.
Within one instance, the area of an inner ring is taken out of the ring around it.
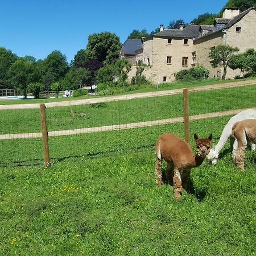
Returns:
[[[235,52],[238,52],[239,49],[233,46],[224,46],[219,45],[210,51],[210,64],[213,68],[222,67],[223,75],[222,79],[226,77],[226,69],[228,68],[230,57],[233,56]]]

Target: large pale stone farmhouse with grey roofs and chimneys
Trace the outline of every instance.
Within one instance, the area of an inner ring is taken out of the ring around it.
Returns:
[[[133,55],[129,57],[132,70],[129,78],[136,72],[138,61],[148,67],[143,72],[148,80],[154,83],[170,82],[175,80],[174,73],[181,69],[203,65],[210,71],[210,77],[221,77],[221,68],[212,68],[210,65],[210,49],[219,44],[236,46],[240,52],[248,48],[256,49],[256,11],[254,7],[240,13],[240,10],[227,8],[222,18],[216,18],[211,26],[189,24],[180,29],[164,29],[160,25],[160,32],[142,38],[142,47],[134,47]],[[133,40],[131,40],[133,41]],[[126,51],[125,42],[123,51]],[[138,46],[137,40],[137,46]],[[242,75],[239,69],[233,71],[228,68],[226,78],[230,79]]]

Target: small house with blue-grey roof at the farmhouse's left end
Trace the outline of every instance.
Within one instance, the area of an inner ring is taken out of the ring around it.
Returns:
[[[127,39],[125,43],[123,43],[120,57],[125,57],[132,65],[135,65],[136,51],[139,49],[142,49],[141,39]]]

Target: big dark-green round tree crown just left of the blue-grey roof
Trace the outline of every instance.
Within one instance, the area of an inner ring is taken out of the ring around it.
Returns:
[[[92,34],[88,37],[86,54],[88,59],[97,59],[104,64],[112,64],[119,59],[119,52],[122,48],[117,35],[110,32]]]

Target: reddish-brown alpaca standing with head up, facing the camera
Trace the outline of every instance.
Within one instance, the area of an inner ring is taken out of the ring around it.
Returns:
[[[209,153],[212,134],[207,139],[199,139],[194,135],[196,141],[196,154],[193,154],[191,146],[172,133],[162,134],[155,145],[156,151],[156,184],[162,185],[162,159],[167,162],[166,176],[168,183],[174,185],[174,195],[180,200],[181,193],[187,190],[188,177],[191,168],[200,166]]]

